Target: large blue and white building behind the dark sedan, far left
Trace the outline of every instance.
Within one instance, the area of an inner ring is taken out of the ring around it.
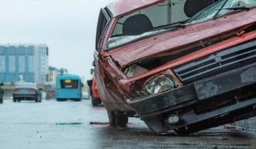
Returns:
[[[47,45],[0,45],[1,82],[47,82],[48,66]]]

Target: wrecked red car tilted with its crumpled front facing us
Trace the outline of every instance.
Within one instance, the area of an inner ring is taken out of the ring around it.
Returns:
[[[120,0],[99,13],[110,124],[189,134],[256,115],[255,0]]]

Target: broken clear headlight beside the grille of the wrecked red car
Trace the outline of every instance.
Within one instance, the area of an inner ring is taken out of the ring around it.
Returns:
[[[159,75],[145,85],[145,94],[158,94],[175,88],[175,82],[167,75]]]

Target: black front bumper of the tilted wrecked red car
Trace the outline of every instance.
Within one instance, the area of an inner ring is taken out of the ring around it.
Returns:
[[[256,64],[253,64],[127,103],[153,132],[187,126],[203,130],[256,116],[255,88]],[[172,114],[179,116],[179,122],[167,122]]]

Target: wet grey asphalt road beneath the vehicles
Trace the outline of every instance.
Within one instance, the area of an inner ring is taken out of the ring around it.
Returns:
[[[0,148],[256,148],[256,120],[249,128],[227,130],[223,126],[177,136],[153,134],[138,118],[127,128],[111,128],[103,106],[82,102],[41,103],[5,100],[0,104]]]

